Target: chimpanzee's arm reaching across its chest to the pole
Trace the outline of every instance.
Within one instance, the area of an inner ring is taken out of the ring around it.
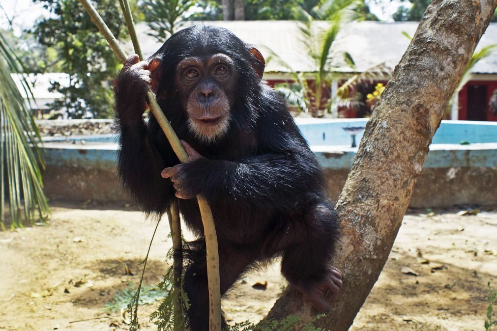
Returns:
[[[305,193],[323,190],[321,167],[291,118],[261,119],[258,132],[257,155],[233,161],[198,158],[177,166],[171,180],[178,191],[235,207],[281,211],[293,208]]]

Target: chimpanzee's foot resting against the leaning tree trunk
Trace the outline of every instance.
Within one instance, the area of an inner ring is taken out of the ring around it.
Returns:
[[[338,293],[343,286],[342,274],[340,270],[332,266],[328,274],[320,281],[312,284],[292,285],[301,291],[304,298],[311,301],[314,307],[321,311],[328,311],[330,310],[330,305],[325,298],[336,299],[338,297]]]

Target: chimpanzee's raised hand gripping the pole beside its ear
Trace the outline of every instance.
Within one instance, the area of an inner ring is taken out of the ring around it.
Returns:
[[[133,54],[124,63],[117,76],[116,95],[117,112],[121,122],[132,124],[141,119],[146,109],[146,93],[152,84],[152,72],[159,65],[158,61],[139,62],[138,55]]]

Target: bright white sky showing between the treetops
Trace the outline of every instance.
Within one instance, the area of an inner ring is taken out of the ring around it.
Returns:
[[[370,3],[371,12],[382,20],[389,20],[401,3],[400,0],[375,0],[368,2]],[[49,14],[41,4],[33,4],[31,0],[0,0],[0,6],[10,18],[14,17],[13,29],[16,35],[19,35],[23,29],[32,27],[36,19],[41,15],[46,16]],[[7,19],[1,9],[0,27],[3,29],[9,28]]]

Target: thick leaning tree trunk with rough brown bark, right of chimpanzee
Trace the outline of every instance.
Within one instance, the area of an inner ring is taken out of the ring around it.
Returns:
[[[433,0],[369,120],[336,210],[344,275],[331,312],[315,323],[348,330],[385,265],[447,102],[494,14],[497,0]],[[287,289],[264,320],[316,312]],[[298,330],[298,329],[297,329]]]

